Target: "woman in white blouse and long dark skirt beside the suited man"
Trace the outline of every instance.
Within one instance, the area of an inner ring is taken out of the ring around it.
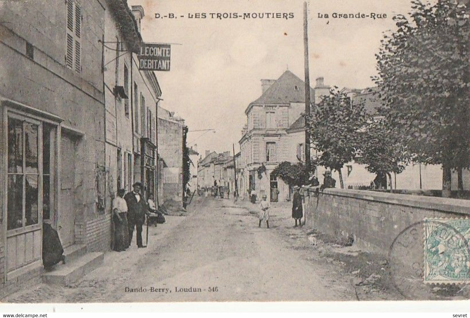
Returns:
[[[129,247],[129,226],[127,224],[127,203],[124,200],[125,189],[119,189],[113,199],[114,248],[121,252]]]

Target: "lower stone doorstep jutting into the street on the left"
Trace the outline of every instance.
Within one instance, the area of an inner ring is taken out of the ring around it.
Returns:
[[[42,280],[47,284],[67,286],[98,268],[102,265],[103,259],[103,253],[86,253],[70,263],[56,265],[52,271],[42,275]]]

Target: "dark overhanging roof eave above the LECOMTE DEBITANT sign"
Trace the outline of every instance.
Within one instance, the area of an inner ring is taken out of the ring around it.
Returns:
[[[137,28],[137,22],[131,9],[127,6],[126,0],[106,0],[110,12],[114,17],[114,22],[119,32],[121,32],[127,47],[133,53],[139,53],[142,44],[142,37]]]

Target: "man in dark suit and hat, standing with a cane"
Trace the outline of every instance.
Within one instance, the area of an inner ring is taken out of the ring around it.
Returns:
[[[132,242],[132,235],[134,232],[134,226],[137,229],[137,247],[142,247],[142,225],[145,221],[145,214],[147,214],[147,203],[145,198],[141,195],[142,184],[135,182],[133,185],[133,191],[128,192],[125,196],[125,202],[127,203],[127,224],[129,229],[129,245]]]

